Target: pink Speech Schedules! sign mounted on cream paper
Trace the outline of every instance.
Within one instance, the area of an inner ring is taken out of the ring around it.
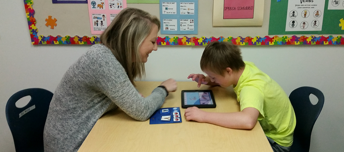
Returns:
[[[253,19],[255,0],[224,0],[223,19]]]

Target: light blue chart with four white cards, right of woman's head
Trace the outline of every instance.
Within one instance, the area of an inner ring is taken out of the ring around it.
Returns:
[[[198,0],[160,0],[161,34],[198,34]]]

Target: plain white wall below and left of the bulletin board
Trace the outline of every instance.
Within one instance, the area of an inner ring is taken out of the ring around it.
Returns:
[[[32,46],[22,0],[2,1],[0,14],[0,151],[14,152],[5,116],[9,97],[32,87],[54,92],[65,70],[89,46]],[[145,80],[187,81],[190,73],[201,72],[199,61],[203,48],[160,46],[149,57]],[[313,128],[310,152],[343,151],[344,46],[241,48],[244,60],[254,62],[288,95],[300,86],[312,86],[324,93],[325,104]]]

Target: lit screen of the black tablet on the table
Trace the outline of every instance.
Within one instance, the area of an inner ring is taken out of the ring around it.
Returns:
[[[213,105],[209,92],[184,92],[184,105]]]

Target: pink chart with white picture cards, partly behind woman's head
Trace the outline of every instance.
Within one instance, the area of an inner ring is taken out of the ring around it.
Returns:
[[[126,0],[88,0],[91,34],[101,34],[124,8]]]

